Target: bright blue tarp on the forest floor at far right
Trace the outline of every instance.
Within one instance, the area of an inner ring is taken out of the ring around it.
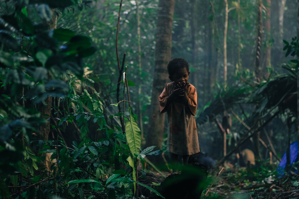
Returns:
[[[290,145],[290,164],[293,165],[294,162],[298,162],[298,141],[293,142]],[[298,165],[296,165],[298,168]],[[284,170],[286,169],[286,152],[283,154],[283,157],[277,167],[278,175],[283,175]],[[298,171],[296,170],[295,173]]]

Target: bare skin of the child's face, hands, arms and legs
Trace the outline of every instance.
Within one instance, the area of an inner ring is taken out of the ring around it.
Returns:
[[[177,97],[182,98],[184,105],[189,109],[189,97],[187,95],[189,74],[190,72],[188,72],[186,68],[181,68],[175,74],[169,76],[169,79],[175,83],[175,86],[173,92],[167,98],[166,109],[170,108],[171,103]],[[177,172],[178,157],[179,155],[170,152],[170,158],[173,163],[173,173]],[[183,155],[184,165],[187,165],[188,159],[189,155]]]

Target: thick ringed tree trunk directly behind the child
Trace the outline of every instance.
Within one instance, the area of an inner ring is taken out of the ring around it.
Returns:
[[[165,114],[160,114],[159,95],[169,81],[167,64],[171,58],[174,3],[175,0],[160,0],[157,20],[155,68],[146,147],[158,146],[159,149],[162,149],[165,121]]]

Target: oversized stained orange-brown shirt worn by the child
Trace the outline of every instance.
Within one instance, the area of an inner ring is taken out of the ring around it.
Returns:
[[[194,117],[197,107],[196,89],[188,83],[189,107],[184,105],[181,97],[177,97],[174,98],[170,108],[166,110],[167,98],[173,92],[174,86],[174,82],[166,84],[159,96],[160,112],[167,112],[168,118],[167,151],[178,155],[193,155],[199,152]]]

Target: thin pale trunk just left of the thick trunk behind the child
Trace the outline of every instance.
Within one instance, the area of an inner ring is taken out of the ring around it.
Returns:
[[[139,5],[138,1],[136,0],[136,6],[137,6],[137,33],[138,33],[138,58],[139,58],[139,75],[141,78],[141,34],[140,34],[140,13],[139,13]],[[142,78],[139,84],[139,90],[138,90],[138,109],[139,109],[139,124],[140,124],[140,131],[141,131],[141,142],[144,144],[144,135],[143,135],[143,122],[142,122],[142,108],[140,103],[140,96],[141,96],[141,82]]]

